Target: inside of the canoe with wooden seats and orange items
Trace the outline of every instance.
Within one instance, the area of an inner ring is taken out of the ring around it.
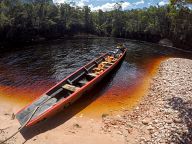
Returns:
[[[112,64],[115,63],[115,61],[117,61],[118,58],[122,55],[122,53],[122,50],[115,49],[114,51],[111,51],[97,58],[86,66],[80,68],[68,79],[65,79],[59,85],[52,88],[49,92],[42,95],[29,106],[18,112],[16,114],[16,118],[21,125],[25,124],[25,122],[31,117],[31,114],[36,109],[36,107],[39,106],[31,120],[38,117],[52,106],[57,104],[60,100],[69,97],[77,89],[80,89],[87,82],[97,77],[97,75],[99,75],[99,70],[101,71],[101,68],[98,68],[99,66],[102,66],[103,71],[112,66]],[[112,57],[113,59],[109,60],[109,57]]]

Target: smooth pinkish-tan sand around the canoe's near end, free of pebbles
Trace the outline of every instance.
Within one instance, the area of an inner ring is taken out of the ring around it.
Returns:
[[[19,124],[14,119],[13,112],[16,107],[10,104],[0,104],[0,142],[17,131]],[[3,108],[3,109],[2,109]],[[69,119],[67,119],[69,117]],[[119,144],[124,138],[118,134],[111,136],[102,130],[102,119],[92,119],[83,114],[72,118],[61,112],[53,119],[44,121],[34,127],[24,129],[18,133],[8,144]]]

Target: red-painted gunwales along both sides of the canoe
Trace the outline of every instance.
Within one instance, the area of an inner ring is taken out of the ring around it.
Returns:
[[[113,63],[113,65],[111,65],[110,67],[106,68],[103,72],[101,72],[97,77],[93,78],[92,80],[88,81],[85,85],[83,85],[80,89],[76,90],[75,92],[73,92],[71,95],[69,95],[66,98],[63,98],[61,100],[59,100],[55,105],[53,105],[52,107],[50,107],[49,109],[47,109],[44,113],[38,115],[37,117],[33,118],[27,125],[28,126],[32,126],[35,123],[37,123],[38,121],[41,121],[42,119],[49,117],[50,112],[53,111],[56,112],[59,109],[61,109],[63,106],[67,105],[68,103],[71,103],[74,99],[77,99],[81,96],[81,94],[83,94],[86,90],[88,90],[90,87],[92,87],[94,84],[98,83],[103,77],[105,77],[116,65],[118,65],[118,63],[123,59],[123,57],[125,56],[126,53],[126,49],[124,50],[124,52],[122,52],[122,55],[118,58],[117,61],[115,61]],[[74,74],[78,73],[81,70],[85,70],[87,71],[87,67],[92,64],[93,62],[95,62],[96,60],[99,60],[100,58],[104,58],[105,56],[107,56],[108,53],[105,53],[103,55],[101,55],[100,57],[90,61],[88,64],[86,64],[85,66],[80,67],[78,70],[76,70],[75,72],[73,72],[72,74],[70,74],[69,76],[67,76],[66,78],[64,78],[63,80],[61,80],[59,83],[57,83],[55,86],[53,86],[52,88],[50,88],[48,91],[46,91],[45,93],[43,93],[42,95],[40,95],[37,99],[35,99],[33,102],[31,102],[30,104],[28,104],[27,106],[25,106],[23,109],[21,109],[20,111],[18,111],[16,113],[19,114],[21,111],[25,110],[27,107],[29,107],[31,104],[33,104],[35,101],[37,101],[41,96],[47,94],[48,92],[50,92],[51,90],[55,89],[56,87],[58,87],[59,85],[61,85],[62,83],[64,83],[66,80],[68,80],[71,76],[73,76]],[[89,71],[89,70],[88,70]]]

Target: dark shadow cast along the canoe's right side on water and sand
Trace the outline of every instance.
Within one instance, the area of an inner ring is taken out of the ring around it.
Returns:
[[[101,82],[99,82],[95,88],[83,95],[79,100],[74,102],[72,105],[68,106],[62,112],[56,114],[55,116],[40,122],[32,127],[25,128],[21,131],[22,136],[27,141],[36,135],[44,133],[48,130],[54,129],[59,125],[64,124],[74,115],[85,109],[88,105],[98,99],[107,89],[109,89],[109,84],[115,77],[119,68],[121,67],[122,61],[117,65],[117,67],[109,73]],[[24,142],[25,143],[25,142]]]

